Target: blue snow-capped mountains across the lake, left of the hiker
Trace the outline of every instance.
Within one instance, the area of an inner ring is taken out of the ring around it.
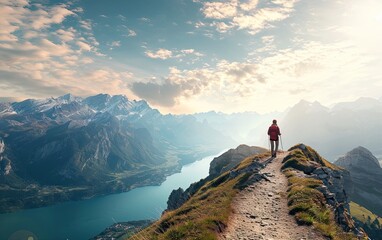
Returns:
[[[0,211],[159,184],[232,142],[195,117],[122,95],[1,103]]]

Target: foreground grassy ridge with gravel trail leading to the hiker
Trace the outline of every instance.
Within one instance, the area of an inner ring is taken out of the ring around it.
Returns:
[[[165,212],[157,222],[130,239],[285,239],[286,236],[325,239],[322,235],[331,239],[357,239],[355,233],[362,232],[349,220],[346,211],[343,170],[305,145],[297,145],[290,151],[283,165],[280,157],[253,155],[230,171],[191,185],[194,190],[188,201]],[[288,177],[288,188],[281,168]],[[282,179],[284,183],[280,182]],[[299,201],[313,205],[296,205]],[[298,226],[288,212],[308,227]],[[279,216],[279,213],[285,214]]]

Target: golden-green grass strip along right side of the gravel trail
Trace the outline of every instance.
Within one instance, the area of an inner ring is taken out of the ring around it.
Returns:
[[[300,224],[313,225],[324,236],[335,240],[357,239],[352,233],[345,233],[334,220],[333,210],[328,207],[324,195],[316,189],[321,180],[307,178],[301,171],[312,166],[326,166],[338,169],[317,154],[312,148],[302,151],[298,147],[289,149],[290,154],[284,159],[283,171],[288,177],[288,205]],[[305,153],[304,153],[305,152]]]

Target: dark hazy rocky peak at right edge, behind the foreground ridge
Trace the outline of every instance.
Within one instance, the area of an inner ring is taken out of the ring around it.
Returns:
[[[377,158],[366,148],[358,147],[335,164],[350,173],[353,186],[346,186],[350,200],[382,216],[382,168]]]

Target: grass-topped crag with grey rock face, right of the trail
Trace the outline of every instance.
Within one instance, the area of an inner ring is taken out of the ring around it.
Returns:
[[[347,183],[350,180],[349,172],[329,163],[315,150],[304,144],[298,144],[289,149],[289,151],[289,155],[283,160],[283,169],[289,171],[290,179],[294,178],[290,180],[292,184],[291,189],[295,182],[301,182],[299,188],[310,189],[309,191],[311,192],[311,195],[307,197],[307,202],[314,202],[316,201],[315,199],[323,197],[325,200],[321,201],[321,206],[319,207],[324,211],[326,208],[324,204],[327,204],[329,206],[328,209],[333,213],[335,223],[337,223],[345,233],[353,232],[356,235],[364,235],[363,230],[356,226],[356,223],[350,216],[349,199],[346,191],[346,188],[351,189],[351,185]],[[308,182],[308,184],[305,184],[305,182]],[[296,191],[297,193],[295,194],[298,195],[300,194],[299,191],[302,190]],[[293,190],[290,190],[289,194],[292,195]],[[311,197],[311,199],[309,199],[309,197]],[[301,201],[301,199],[298,201]],[[293,203],[291,203],[291,205],[293,206]],[[309,207],[302,212],[306,211],[308,215],[310,215],[310,208],[314,209],[317,206],[314,206],[314,204],[307,205]],[[296,214],[297,220],[302,222],[307,221],[308,218],[306,218],[304,214]],[[335,232],[335,229],[332,231]]]

